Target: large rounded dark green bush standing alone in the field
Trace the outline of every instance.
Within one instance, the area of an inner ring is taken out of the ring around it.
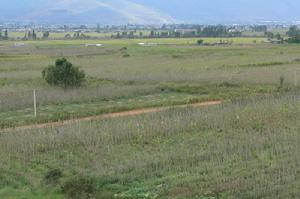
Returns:
[[[43,70],[43,78],[51,86],[79,87],[85,80],[84,71],[74,67],[67,59],[57,59],[55,66],[48,66]]]

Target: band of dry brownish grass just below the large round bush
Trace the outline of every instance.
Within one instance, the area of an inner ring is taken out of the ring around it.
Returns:
[[[114,98],[146,95],[155,91],[151,85],[104,85],[99,87],[82,87],[78,89],[38,89],[38,105],[67,104],[110,100]],[[33,90],[19,92],[0,91],[0,111],[32,108]]]

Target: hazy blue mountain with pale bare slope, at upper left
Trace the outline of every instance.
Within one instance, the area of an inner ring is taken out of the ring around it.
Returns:
[[[48,23],[164,24],[178,20],[127,0],[54,0],[27,4],[6,2],[0,20]],[[13,5],[18,5],[15,7]],[[5,9],[4,9],[5,7]]]

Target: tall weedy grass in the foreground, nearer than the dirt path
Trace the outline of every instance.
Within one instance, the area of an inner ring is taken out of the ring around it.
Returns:
[[[300,95],[0,134],[0,198],[299,198]]]

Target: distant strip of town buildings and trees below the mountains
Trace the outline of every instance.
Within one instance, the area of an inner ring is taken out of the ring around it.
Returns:
[[[280,40],[291,25],[100,25],[100,24],[0,24],[3,40],[177,38],[177,37],[268,37]]]

